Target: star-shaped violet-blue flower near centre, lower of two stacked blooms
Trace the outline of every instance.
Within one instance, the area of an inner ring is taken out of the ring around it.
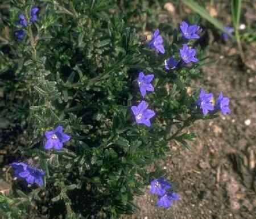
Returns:
[[[150,127],[150,119],[154,117],[155,112],[154,110],[147,109],[147,106],[146,101],[141,101],[138,106],[131,106],[131,110],[133,111],[137,123],[142,123]]]

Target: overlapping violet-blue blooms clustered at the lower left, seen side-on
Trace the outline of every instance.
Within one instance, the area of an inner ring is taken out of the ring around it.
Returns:
[[[11,167],[14,169],[14,175],[18,178],[26,179],[28,184],[38,184],[42,186],[44,171],[38,170],[35,167],[28,166],[28,164],[20,163],[11,163]]]

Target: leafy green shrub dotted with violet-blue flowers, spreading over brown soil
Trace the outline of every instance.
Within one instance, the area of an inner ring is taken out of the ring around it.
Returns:
[[[159,165],[169,144],[188,147],[195,134],[185,127],[230,113],[221,90],[187,90],[205,59],[200,24],[165,33],[151,23],[150,37],[130,2],[6,3],[1,83],[22,97],[13,119],[26,142],[10,162],[18,180],[13,195],[0,196],[1,213],[116,218],[138,210],[133,197],[149,184],[156,205],[169,208],[179,199]]]

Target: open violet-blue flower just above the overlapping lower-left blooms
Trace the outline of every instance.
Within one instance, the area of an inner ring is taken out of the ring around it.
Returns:
[[[50,150],[54,148],[55,150],[61,150],[63,148],[63,143],[69,141],[70,136],[63,133],[63,127],[58,126],[53,131],[46,131],[45,133],[47,141],[44,144],[44,149]]]

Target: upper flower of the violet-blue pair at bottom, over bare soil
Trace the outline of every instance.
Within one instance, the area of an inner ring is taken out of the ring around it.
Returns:
[[[172,184],[166,181],[164,177],[152,180],[150,185],[150,193],[157,194],[159,196],[163,196],[166,193],[166,189],[170,189],[172,187]]]

